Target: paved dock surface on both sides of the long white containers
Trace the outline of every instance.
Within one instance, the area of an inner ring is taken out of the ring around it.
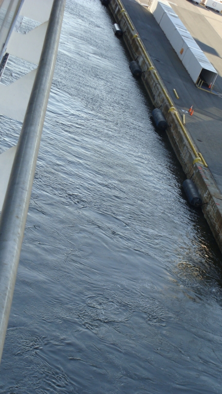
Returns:
[[[195,86],[147,7],[132,0],[122,0],[122,3],[181,115],[184,113],[182,110],[193,105],[194,114],[186,114],[186,124],[222,192],[222,98]],[[222,93],[222,14],[187,0],[170,3],[217,70],[214,90]],[[176,89],[179,100],[173,89]]]

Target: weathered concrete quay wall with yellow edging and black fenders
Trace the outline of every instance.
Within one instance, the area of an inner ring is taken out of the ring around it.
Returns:
[[[168,121],[169,127],[167,134],[171,145],[183,171],[188,178],[192,176],[192,180],[200,192],[202,201],[204,202],[202,211],[222,251],[222,194],[204,159],[202,157],[197,159],[197,156],[199,156],[198,149],[189,134],[189,130],[184,128],[183,125],[181,126],[182,120],[176,105],[167,88],[164,86],[160,75],[155,70],[149,53],[147,53],[135,26],[124,10],[121,0],[111,0],[109,9],[114,15],[116,22],[124,31],[123,39],[128,51],[144,71],[142,81],[153,105],[162,110],[165,119]],[[197,160],[196,163],[195,159]]]

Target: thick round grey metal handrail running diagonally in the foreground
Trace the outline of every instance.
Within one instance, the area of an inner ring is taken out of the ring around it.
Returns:
[[[0,360],[12,303],[35,166],[54,72],[65,0],[54,0],[18,140],[0,220]]]

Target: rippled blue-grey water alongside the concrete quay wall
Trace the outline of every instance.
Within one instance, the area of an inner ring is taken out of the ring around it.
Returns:
[[[1,393],[222,392],[221,255],[127,56],[67,0]]]

